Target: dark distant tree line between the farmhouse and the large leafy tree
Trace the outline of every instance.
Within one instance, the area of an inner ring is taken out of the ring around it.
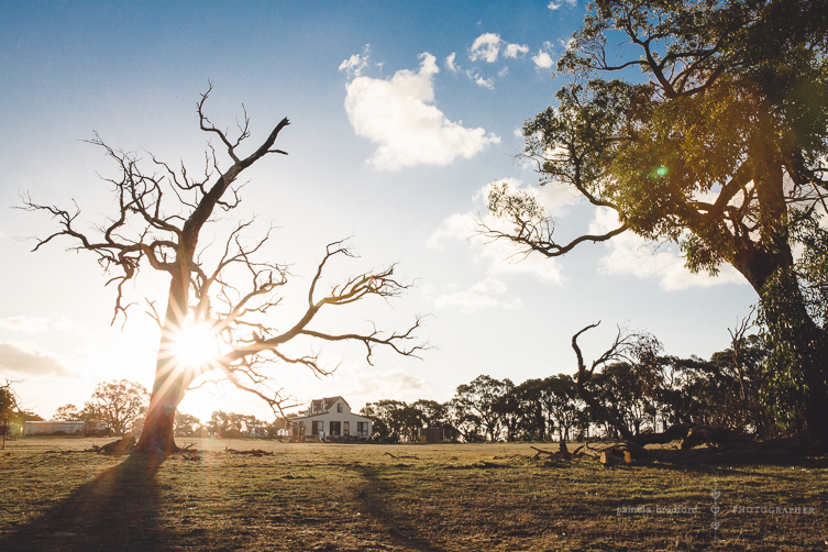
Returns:
[[[770,347],[757,335],[733,341],[710,360],[658,356],[654,362],[615,362],[596,371],[586,388],[634,435],[675,423],[720,426],[773,437],[782,427],[770,397]],[[372,439],[418,440],[421,428],[452,428],[457,440],[548,441],[617,438],[618,430],[586,405],[568,374],[516,385],[487,375],[460,385],[448,402],[420,399],[368,402],[360,412],[374,421]]]

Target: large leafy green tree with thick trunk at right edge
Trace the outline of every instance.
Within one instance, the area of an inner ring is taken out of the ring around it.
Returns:
[[[526,123],[525,155],[541,185],[618,225],[560,243],[532,196],[495,187],[489,208],[510,225],[482,231],[547,256],[631,231],[677,243],[693,272],[732,265],[774,343],[764,391],[793,429],[828,437],[828,2],[590,5],[557,64],[570,84]]]

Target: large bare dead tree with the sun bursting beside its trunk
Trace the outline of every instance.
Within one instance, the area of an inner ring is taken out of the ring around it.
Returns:
[[[91,252],[108,274],[114,273],[108,281],[117,288],[113,323],[119,317],[126,319],[133,303],[124,298],[124,285],[137,276],[141,267],[148,265],[169,276],[164,314],[150,302],[162,336],[152,398],[137,445],[142,452],[176,450],[173,433],[176,408],[186,390],[206,372],[218,371],[239,389],[256,395],[275,411],[281,411],[285,397],[281,389],[274,389],[272,371],[266,369],[269,364],[302,365],[317,375],[330,373],[320,363],[319,353],[297,356],[287,351],[286,345],[297,339],[361,342],[366,347],[368,362],[377,346],[389,347],[404,356],[417,356],[428,347],[416,336],[421,318],[400,332],[373,328],[364,333],[333,334],[312,328],[323,309],[369,297],[396,297],[409,287],[395,278],[395,266],[390,265],[358,274],[322,292],[319,288],[323,284],[323,269],[330,262],[354,256],[344,241],[328,245],[308,290],[307,310],[292,324],[283,325],[288,328],[284,331],[277,330],[268,314],[283,299],[279,294],[288,281],[287,266],[258,260],[269,231],[247,244],[243,234],[251,230],[253,221],[241,222],[230,232],[223,251],[219,250],[218,261],[206,260],[210,245],[199,249],[199,236],[206,224],[213,221],[217,211],[238,208],[241,198],[235,183],[246,168],[269,154],[287,155],[274,144],[289,124],[287,119],[279,121],[258,147],[244,156],[240,146],[251,136],[246,110],[234,135],[218,129],[205,112],[211,91],[212,84],[197,103],[199,126],[218,137],[230,159],[229,167],[222,168],[212,145],[206,152],[203,170],[194,175],[184,163],[174,168],[152,154],[151,162],[145,162],[135,153],[112,148],[96,134],[90,143],[106,152],[119,173],[117,178],[106,179],[113,186],[118,199],[118,211],[112,218],[91,232],[85,232],[78,228],[80,210],[77,206],[69,211],[36,203],[29,195],[22,198],[22,209],[46,212],[58,225],[54,233],[37,240],[34,251],[55,239],[69,239],[74,242],[70,249]],[[145,167],[147,164],[150,170]],[[213,245],[211,252],[217,253],[217,250]],[[195,328],[207,329],[220,343],[207,365],[185,364],[178,354],[180,340]]]

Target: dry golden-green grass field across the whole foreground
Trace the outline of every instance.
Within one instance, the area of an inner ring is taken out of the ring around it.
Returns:
[[[0,551],[828,551],[825,460],[605,468],[529,444],[195,441],[166,459],[8,443]],[[274,454],[233,452],[254,449]]]

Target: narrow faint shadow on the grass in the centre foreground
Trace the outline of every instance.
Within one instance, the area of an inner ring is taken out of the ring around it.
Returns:
[[[429,531],[421,527],[400,526],[394,517],[393,494],[388,485],[379,477],[382,468],[358,464],[352,467],[362,475],[364,483],[356,489],[356,499],[364,511],[376,520],[394,541],[395,544],[421,552],[443,552],[444,549],[434,545],[423,538]],[[404,516],[404,514],[399,514]]]

